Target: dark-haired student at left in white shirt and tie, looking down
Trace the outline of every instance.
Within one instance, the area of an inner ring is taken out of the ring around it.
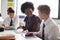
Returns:
[[[7,10],[8,17],[4,20],[5,29],[15,29],[19,25],[19,18],[14,14],[14,10],[12,8],[8,8]]]

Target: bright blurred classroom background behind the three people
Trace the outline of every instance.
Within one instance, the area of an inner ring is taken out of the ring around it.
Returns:
[[[54,19],[60,29],[60,0],[0,0],[0,13],[2,14],[2,17],[5,19],[8,16],[7,9],[12,7],[15,14],[21,18],[20,22],[23,23],[26,15],[21,12],[21,5],[27,1],[34,4],[35,10],[33,14],[36,16],[38,16],[37,7],[39,5],[49,5],[51,8],[50,17]]]

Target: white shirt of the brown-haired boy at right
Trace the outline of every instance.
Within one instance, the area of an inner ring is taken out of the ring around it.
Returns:
[[[59,29],[57,24],[51,18],[48,18],[44,23],[45,40],[58,40]],[[40,34],[42,35],[42,27],[40,29]]]

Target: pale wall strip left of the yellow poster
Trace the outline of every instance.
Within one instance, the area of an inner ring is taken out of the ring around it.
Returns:
[[[1,0],[1,14],[3,18],[7,17],[7,0]]]

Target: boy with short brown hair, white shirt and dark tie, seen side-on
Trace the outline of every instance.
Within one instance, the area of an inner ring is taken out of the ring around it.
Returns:
[[[58,40],[59,29],[53,19],[49,17],[50,7],[48,5],[40,5],[38,12],[41,19],[44,20],[43,26],[39,32],[28,32],[27,35],[33,33],[34,35],[39,34],[42,40]]]

